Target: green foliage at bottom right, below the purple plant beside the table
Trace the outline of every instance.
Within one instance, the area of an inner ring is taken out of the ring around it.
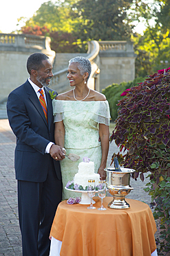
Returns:
[[[150,176],[145,191],[152,196],[153,217],[160,228],[160,237],[156,239],[158,255],[164,255],[170,251],[170,177]]]

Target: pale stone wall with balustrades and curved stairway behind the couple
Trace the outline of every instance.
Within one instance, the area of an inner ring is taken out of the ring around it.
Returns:
[[[30,54],[45,53],[54,66],[50,87],[58,93],[70,89],[67,80],[67,65],[72,57],[82,55],[92,64],[88,86],[102,91],[107,85],[134,80],[135,58],[132,42],[91,41],[87,53],[55,53],[50,48],[50,37],[0,33],[0,101],[6,99],[14,88],[28,78],[25,63]],[[9,75],[10,73],[10,75]],[[8,79],[6,79],[8,77]]]

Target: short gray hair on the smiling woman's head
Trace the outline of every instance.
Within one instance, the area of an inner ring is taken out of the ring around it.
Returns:
[[[83,57],[83,56],[74,57],[69,61],[69,64],[71,63],[78,63],[77,66],[78,66],[78,69],[81,71],[81,75],[83,75],[85,72],[87,72],[90,75],[92,72],[92,65],[86,57]],[[87,77],[87,80],[89,79],[89,75]]]

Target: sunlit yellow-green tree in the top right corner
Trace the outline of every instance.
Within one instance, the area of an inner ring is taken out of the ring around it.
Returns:
[[[145,26],[144,35],[133,37],[136,58],[136,76],[148,75],[169,65],[169,0],[136,1],[131,7],[131,20]]]

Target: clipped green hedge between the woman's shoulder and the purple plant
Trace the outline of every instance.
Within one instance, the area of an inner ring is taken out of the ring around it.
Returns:
[[[121,82],[120,84],[111,84],[103,89],[102,93],[106,96],[109,102],[109,109],[111,119],[116,120],[118,117],[118,100],[122,98],[121,93],[132,86],[137,86],[138,83],[143,82],[145,78],[138,77],[134,81]]]

